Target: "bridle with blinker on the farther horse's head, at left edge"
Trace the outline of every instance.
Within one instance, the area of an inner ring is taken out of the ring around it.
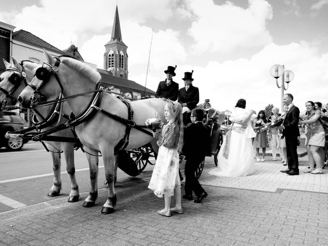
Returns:
[[[7,68],[6,71],[13,71],[14,73],[10,75],[8,80],[10,81],[11,84],[14,85],[14,87],[11,89],[10,92],[6,91],[5,89],[0,87],[0,91],[5,93],[5,97],[1,100],[2,103],[2,108],[6,107],[8,105],[8,100],[7,98],[9,97],[11,99],[11,105],[15,106],[17,99],[12,96],[14,92],[18,89],[22,81],[24,81],[25,86],[27,86],[27,81],[26,81],[26,73],[24,71],[24,67],[22,66],[22,71],[20,71],[17,68]],[[17,73],[19,74],[17,74]]]

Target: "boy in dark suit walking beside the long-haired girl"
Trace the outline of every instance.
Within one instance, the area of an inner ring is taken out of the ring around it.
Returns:
[[[185,144],[182,149],[182,153],[186,156],[186,195],[182,197],[192,200],[193,192],[195,192],[197,199],[194,202],[196,203],[201,203],[201,200],[208,195],[195,177],[195,171],[199,163],[204,160],[210,142],[210,129],[203,126],[203,116],[202,109],[193,109],[191,111],[192,124],[185,128],[183,137]]]

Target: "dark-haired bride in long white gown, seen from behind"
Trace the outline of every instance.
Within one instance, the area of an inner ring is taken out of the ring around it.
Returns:
[[[255,172],[252,137],[255,132],[251,126],[254,110],[247,110],[246,100],[239,99],[230,120],[233,122],[223,140],[218,154],[217,168],[209,174],[215,176],[246,176]]]

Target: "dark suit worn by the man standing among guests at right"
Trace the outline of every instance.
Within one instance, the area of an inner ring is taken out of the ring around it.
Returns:
[[[293,105],[286,113],[286,116],[282,122],[284,127],[282,135],[286,140],[288,169],[294,170],[297,173],[299,172],[297,155],[297,137],[299,136],[298,121],[299,109]]]

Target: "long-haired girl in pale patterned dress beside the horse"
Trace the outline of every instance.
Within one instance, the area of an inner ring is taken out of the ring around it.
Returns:
[[[171,212],[183,213],[179,177],[179,151],[181,151],[183,145],[181,105],[168,100],[164,114],[168,124],[161,124],[154,133],[159,150],[148,188],[153,190],[158,197],[164,195],[165,208],[157,211],[157,213],[169,217]],[[146,125],[150,125],[149,119],[146,120]],[[170,209],[173,195],[175,207]]]

